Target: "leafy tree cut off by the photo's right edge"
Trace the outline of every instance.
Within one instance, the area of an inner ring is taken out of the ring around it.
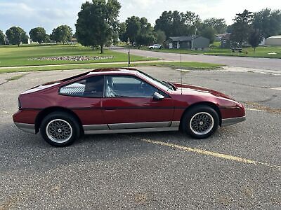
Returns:
[[[281,10],[263,9],[254,13],[253,27],[267,38],[281,33]]]

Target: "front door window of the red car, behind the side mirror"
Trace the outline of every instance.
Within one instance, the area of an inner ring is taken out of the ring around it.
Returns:
[[[105,97],[148,98],[155,92],[159,92],[156,87],[133,76],[105,77]]]

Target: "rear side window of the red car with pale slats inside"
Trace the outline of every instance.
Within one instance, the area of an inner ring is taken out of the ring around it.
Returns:
[[[93,76],[60,87],[59,93],[73,97],[103,97],[104,77]]]

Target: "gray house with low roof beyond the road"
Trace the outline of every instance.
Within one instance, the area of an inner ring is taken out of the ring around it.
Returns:
[[[170,49],[206,50],[210,41],[202,36],[172,36],[168,39]]]

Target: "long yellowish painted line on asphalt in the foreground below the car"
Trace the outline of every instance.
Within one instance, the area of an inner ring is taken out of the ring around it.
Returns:
[[[216,152],[212,152],[212,151],[204,151],[200,148],[190,148],[190,147],[186,147],[186,146],[180,146],[180,145],[177,145],[177,144],[165,143],[165,142],[162,142],[162,141],[152,141],[152,140],[149,140],[149,139],[141,139],[141,141],[145,141],[145,142],[151,143],[151,144],[157,144],[157,145],[160,145],[160,146],[169,146],[171,148],[180,149],[181,151],[188,151],[188,152],[197,153],[197,154],[200,154],[200,155],[207,155],[207,156],[212,156],[212,157],[216,157],[216,158],[222,158],[222,159],[225,159],[225,160],[232,160],[232,161],[235,161],[235,162],[241,162],[241,163],[246,163],[246,164],[251,164],[251,165],[263,165],[263,166],[275,168],[275,169],[278,169],[278,170],[281,169],[281,166],[279,166],[279,165],[271,165],[271,164],[268,164],[266,162],[249,160],[247,158],[240,158],[240,157],[235,157],[235,156],[232,156],[232,155],[226,155],[226,154],[222,154],[222,153],[216,153]]]

